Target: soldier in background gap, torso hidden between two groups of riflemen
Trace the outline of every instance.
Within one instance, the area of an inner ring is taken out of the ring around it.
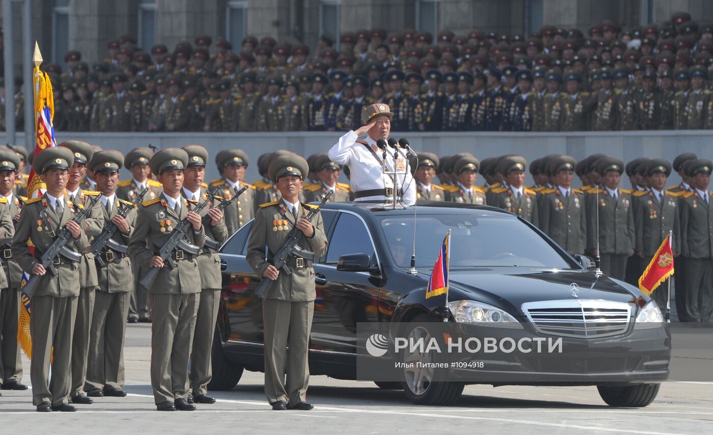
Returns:
[[[153,150],[148,147],[137,147],[126,154],[124,162],[133,177],[118,182],[116,196],[118,196],[119,199],[133,202],[136,196],[147,187],[148,192],[143,196],[143,200],[148,201],[158,198],[161,194],[160,183],[149,178],[151,169],[148,162],[151,157],[153,157]],[[138,280],[143,277],[143,269],[133,261],[131,267],[136,285],[131,293],[128,323],[151,323],[148,294],[144,288],[138,285]]]

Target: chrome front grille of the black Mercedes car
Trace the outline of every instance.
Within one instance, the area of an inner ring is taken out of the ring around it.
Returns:
[[[626,332],[632,305],[606,300],[543,300],[523,303],[536,330],[575,338],[612,337]]]

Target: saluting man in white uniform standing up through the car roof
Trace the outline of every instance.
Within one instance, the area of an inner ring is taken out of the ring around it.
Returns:
[[[339,142],[329,150],[329,159],[337,164],[349,166],[349,182],[354,189],[354,201],[387,201],[393,199],[394,181],[390,174],[381,170],[383,163],[386,172],[396,168],[396,196],[406,205],[416,204],[416,182],[409,170],[409,159],[404,150],[394,159],[394,149],[386,149],[386,160],[382,159],[383,151],[376,146],[376,141],[389,139],[391,132],[391,117],[394,114],[389,106],[383,103],[371,104],[361,111],[361,122],[364,126],[356,131],[349,131],[339,138]],[[366,134],[364,140],[359,137]]]

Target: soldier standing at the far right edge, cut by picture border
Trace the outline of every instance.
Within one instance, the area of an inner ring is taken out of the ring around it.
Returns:
[[[680,202],[681,254],[685,288],[682,322],[708,322],[713,312],[713,206],[708,184],[713,162],[698,159],[686,164],[692,192]],[[677,292],[679,289],[677,289]]]

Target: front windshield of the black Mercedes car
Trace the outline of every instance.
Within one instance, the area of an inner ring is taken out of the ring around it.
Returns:
[[[413,216],[379,216],[394,264],[408,268],[414,240]],[[423,214],[416,217],[416,266],[432,268],[451,230],[451,268],[520,266],[572,268],[533,229],[510,216],[478,213]]]

